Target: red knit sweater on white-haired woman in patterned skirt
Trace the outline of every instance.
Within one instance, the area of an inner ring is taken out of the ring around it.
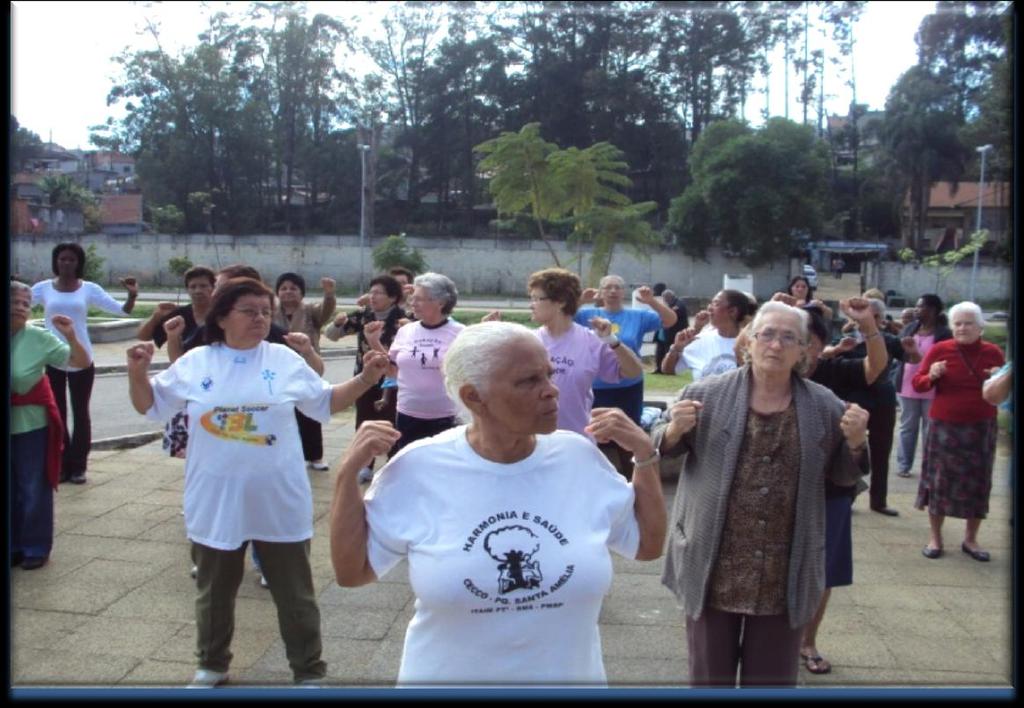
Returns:
[[[994,418],[995,406],[981,398],[981,386],[988,378],[988,370],[1002,366],[1004,361],[1002,350],[991,342],[978,339],[973,344],[957,344],[955,339],[946,339],[928,350],[910,383],[921,392],[935,387],[929,418],[947,423],[973,423]],[[935,362],[945,362],[946,373],[933,382],[928,372]]]

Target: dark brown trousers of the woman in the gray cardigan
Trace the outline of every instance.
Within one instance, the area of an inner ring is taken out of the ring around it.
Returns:
[[[758,617],[705,608],[686,618],[692,688],[793,688],[800,671],[803,627],[785,615]],[[736,678],[736,669],[739,678]]]

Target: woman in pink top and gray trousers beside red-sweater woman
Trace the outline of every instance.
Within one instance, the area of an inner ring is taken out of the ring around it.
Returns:
[[[936,342],[951,338],[952,332],[946,324],[946,316],[942,314],[942,300],[931,293],[918,298],[914,307],[914,320],[900,332],[900,339],[913,337],[921,351],[922,359]],[[896,449],[896,474],[902,477],[910,476],[913,466],[913,456],[918,450],[918,430],[921,438],[928,436],[928,409],[935,398],[935,390],[919,392],[910,385],[910,380],[921,367],[918,364],[899,363],[893,383],[899,397],[899,446]]]

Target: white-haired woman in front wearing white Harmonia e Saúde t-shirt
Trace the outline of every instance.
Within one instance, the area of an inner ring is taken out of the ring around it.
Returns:
[[[521,325],[467,327],[443,371],[468,425],[403,449],[365,500],[356,473],[398,433],[368,421],[343,458],[331,508],[338,583],[409,561],[417,601],[400,685],[603,684],[609,550],[650,560],[665,541],[650,439],[618,409],[593,411],[587,431],[637,458],[628,484],[593,443],[556,431],[551,362]]]

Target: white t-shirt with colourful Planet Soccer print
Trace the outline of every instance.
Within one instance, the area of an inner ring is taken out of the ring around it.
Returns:
[[[284,344],[189,350],[154,376],[153,420],[188,414],[185,531],[232,550],[312,538],[313,500],[295,408],[326,423],[331,384]]]

